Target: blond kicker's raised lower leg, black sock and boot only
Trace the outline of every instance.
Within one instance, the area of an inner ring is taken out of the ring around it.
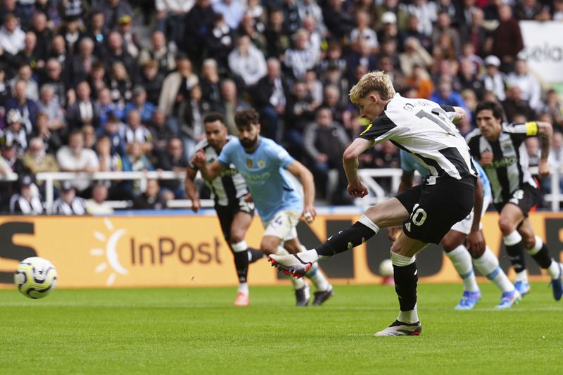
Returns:
[[[378,231],[379,227],[367,216],[362,215],[358,222],[339,231],[339,233],[331,236],[327,242],[313,250],[291,255],[270,255],[268,261],[272,263],[273,267],[281,269],[286,274],[303,277],[311,269],[313,263],[359,246],[372,238]]]

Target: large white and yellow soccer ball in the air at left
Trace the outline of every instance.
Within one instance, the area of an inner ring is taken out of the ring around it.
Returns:
[[[26,258],[15,270],[13,279],[18,290],[26,297],[44,298],[56,286],[57,270],[53,263],[44,258]]]

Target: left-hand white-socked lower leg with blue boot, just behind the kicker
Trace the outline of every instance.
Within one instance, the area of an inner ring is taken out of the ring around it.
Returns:
[[[463,280],[464,291],[462,299],[454,307],[455,310],[471,310],[481,300],[481,291],[475,279],[471,255],[465,246],[460,245],[451,251],[445,251],[445,255],[450,258],[457,274]]]

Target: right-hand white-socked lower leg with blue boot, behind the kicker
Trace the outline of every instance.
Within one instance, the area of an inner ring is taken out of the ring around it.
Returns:
[[[498,264],[498,258],[493,254],[488,246],[483,255],[479,258],[474,258],[473,263],[475,268],[485,275],[487,279],[500,289],[500,303],[496,306],[498,309],[510,309],[512,305],[516,305],[521,300],[519,291],[510,282],[505,272],[502,271]]]

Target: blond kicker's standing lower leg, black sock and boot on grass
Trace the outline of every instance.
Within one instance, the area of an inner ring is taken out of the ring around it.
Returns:
[[[375,333],[375,336],[418,336],[422,332],[422,325],[417,314],[418,269],[415,257],[405,257],[391,251],[391,261],[400,312],[391,326]]]

